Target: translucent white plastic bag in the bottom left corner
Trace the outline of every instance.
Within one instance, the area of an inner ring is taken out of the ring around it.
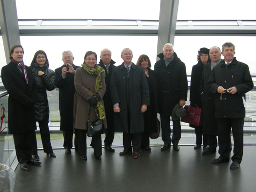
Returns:
[[[0,164],[0,192],[13,192],[15,175],[12,168]]]

